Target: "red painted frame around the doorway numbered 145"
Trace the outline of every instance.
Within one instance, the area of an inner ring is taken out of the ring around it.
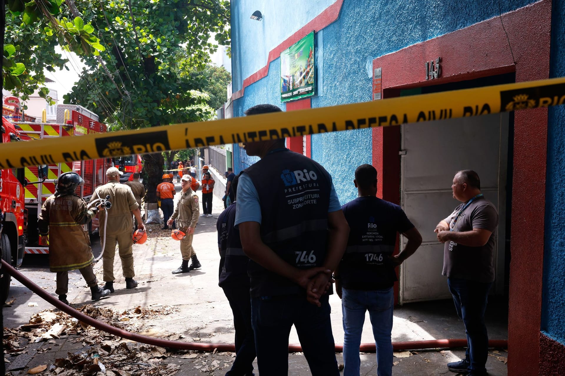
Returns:
[[[381,83],[385,97],[397,96],[401,87],[438,85],[513,71],[517,82],[543,79],[549,77],[550,37],[551,0],[542,0],[381,56],[373,60],[373,68],[383,68]],[[443,77],[426,81],[424,63],[438,56],[443,60]],[[389,128],[394,127],[386,129]],[[389,175],[392,179],[386,179],[384,145],[389,145],[389,141],[385,130],[373,129],[373,164],[384,175],[381,180],[384,192],[379,191],[379,194],[383,194],[385,200],[389,200],[387,190],[398,192],[398,178]],[[544,243],[538,234],[543,233],[545,227],[546,148],[547,109],[517,111],[514,118],[509,375],[537,376],[540,368]]]

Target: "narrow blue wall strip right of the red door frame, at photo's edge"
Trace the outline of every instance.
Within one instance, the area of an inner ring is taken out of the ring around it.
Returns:
[[[565,0],[553,1],[550,76],[565,77]],[[541,330],[565,345],[565,105],[549,109]]]

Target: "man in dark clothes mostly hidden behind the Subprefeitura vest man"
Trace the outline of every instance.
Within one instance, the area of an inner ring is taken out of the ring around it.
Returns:
[[[234,197],[237,199],[237,176],[232,180]],[[240,232],[234,226],[236,205],[229,205],[221,212],[216,223],[220,270],[218,285],[224,290],[233,312],[233,327],[236,329],[236,359],[226,376],[253,375],[255,360],[255,338],[251,326],[251,297],[247,264],[249,257],[241,246]]]

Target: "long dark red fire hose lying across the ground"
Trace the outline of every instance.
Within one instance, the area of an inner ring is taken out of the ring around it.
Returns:
[[[46,300],[50,304],[53,304],[53,306],[59,308],[63,312],[68,313],[72,317],[75,317],[75,319],[85,322],[88,325],[92,325],[94,326],[94,328],[105,331],[106,333],[110,333],[118,337],[126,338],[136,342],[150,344],[151,346],[175,348],[177,350],[214,351],[214,349],[217,348],[218,351],[231,351],[231,352],[235,351],[234,344],[179,342],[168,339],[146,337],[145,335],[131,333],[126,330],[115,328],[114,326],[95,320],[92,317],[77,311],[75,308],[67,306],[67,304],[64,304],[59,299],[56,299],[55,297],[47,293],[47,291],[34,284],[31,280],[29,280],[28,277],[24,276],[22,273],[17,271],[5,260],[2,260],[2,267],[6,268],[7,271],[12,275],[12,277],[16,278],[16,280],[18,280],[25,287],[28,287],[28,289],[32,290],[34,293],[39,295],[40,298]],[[433,339],[433,340],[417,340],[417,341],[407,341],[407,342],[393,342],[394,350],[416,350],[416,349],[424,349],[424,348],[456,348],[456,347],[465,347],[465,346],[467,346],[467,339]],[[489,340],[489,347],[506,348],[508,347],[508,340],[506,339]],[[344,350],[343,345],[336,344],[336,352],[342,352],[343,350]],[[301,352],[302,347],[299,344],[289,344],[288,351]],[[375,352],[376,351],[375,344],[362,343],[359,351]]]

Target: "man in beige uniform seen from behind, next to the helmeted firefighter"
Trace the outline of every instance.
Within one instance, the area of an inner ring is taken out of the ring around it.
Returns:
[[[133,279],[135,272],[133,271],[133,239],[132,239],[132,215],[136,217],[140,230],[145,230],[145,225],[141,219],[141,211],[137,204],[136,198],[133,196],[131,188],[127,185],[120,184],[121,171],[116,167],[110,167],[106,170],[108,183],[95,189],[90,202],[97,198],[106,198],[110,196],[108,201],[112,207],[100,214],[100,241],[104,246],[102,256],[104,268],[105,289],[114,292],[114,256],[116,254],[116,243],[118,244],[121,269],[125,277],[125,287],[133,289],[137,286],[137,281]],[[107,223],[105,224],[105,221]],[[106,229],[105,229],[106,228]]]

